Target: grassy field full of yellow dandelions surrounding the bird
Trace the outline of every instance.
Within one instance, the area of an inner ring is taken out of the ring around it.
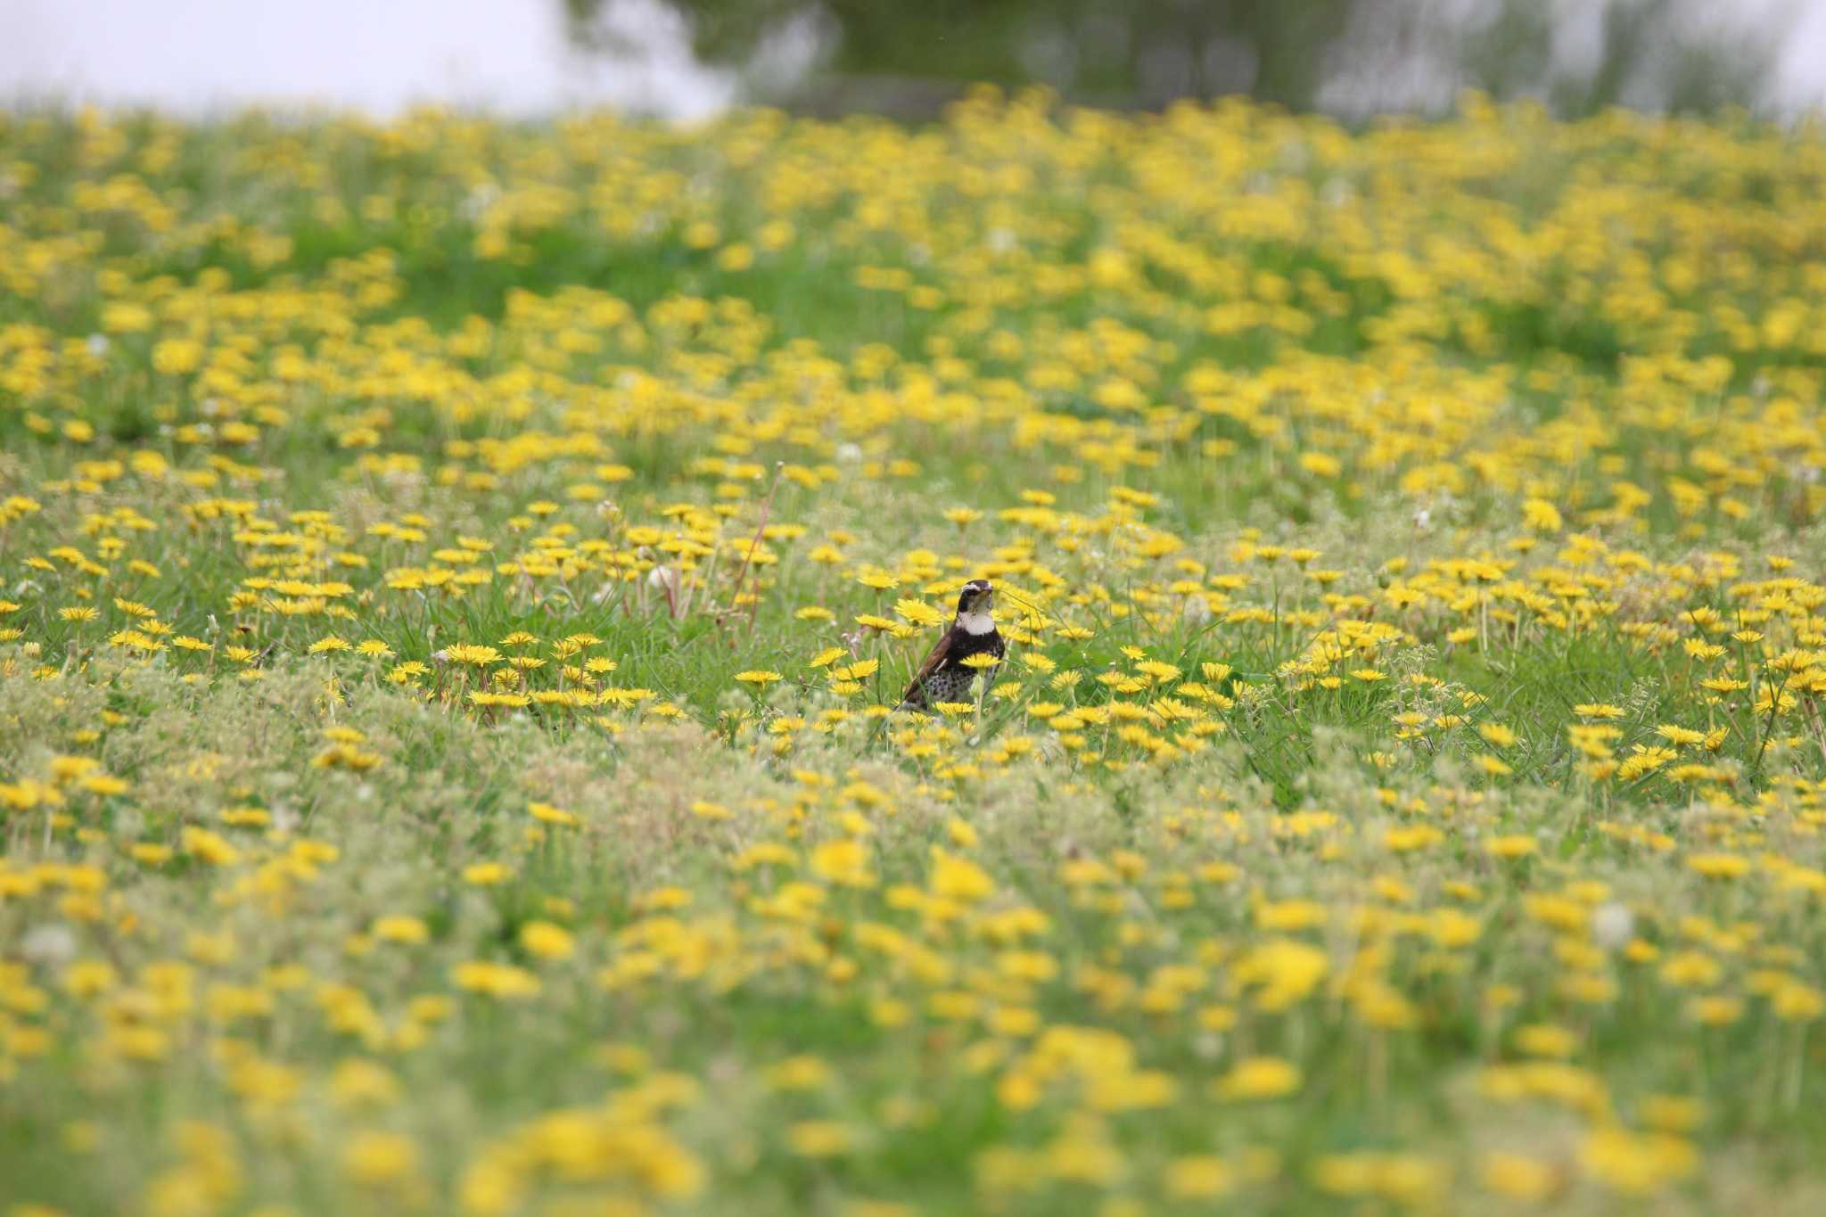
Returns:
[[[0,115],[0,1212],[1826,1212],[1822,192]]]

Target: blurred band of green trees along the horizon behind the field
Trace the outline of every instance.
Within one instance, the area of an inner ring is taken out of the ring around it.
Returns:
[[[588,40],[630,0],[562,2]],[[1437,108],[1464,86],[1574,115],[1755,106],[1791,24],[1777,13],[1726,36],[1700,20],[1715,13],[1702,0],[665,2],[699,58],[741,69],[750,95],[908,117],[973,80],[1118,108],[1225,93],[1293,109]],[[1357,88],[1340,93],[1340,80]]]

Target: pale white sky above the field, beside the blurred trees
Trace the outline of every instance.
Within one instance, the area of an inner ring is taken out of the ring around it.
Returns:
[[[1718,13],[1757,22],[1779,7],[1797,13],[1779,100],[1817,106],[1826,0],[1737,0]],[[378,115],[442,100],[511,115],[619,106],[679,119],[729,104],[732,78],[692,60],[659,0],[619,0],[615,11],[643,49],[632,62],[573,55],[557,0],[0,0],[0,100]]]

